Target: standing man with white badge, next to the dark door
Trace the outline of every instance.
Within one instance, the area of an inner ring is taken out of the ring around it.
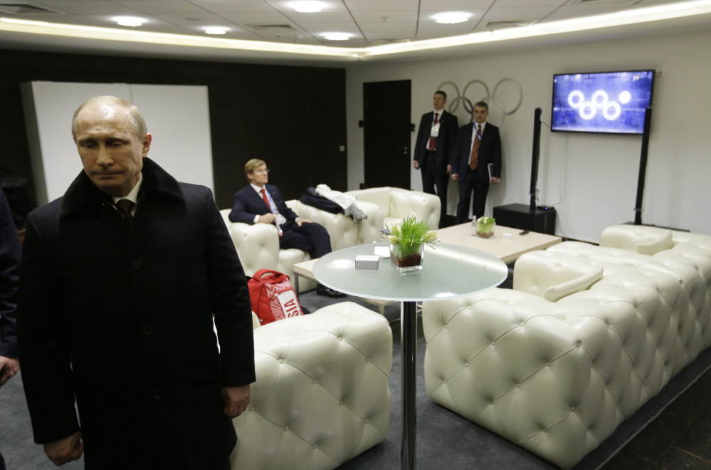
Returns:
[[[436,91],[433,98],[434,111],[423,114],[420,120],[412,162],[415,169],[422,171],[422,190],[439,196],[442,203],[440,226],[443,226],[447,215],[447,184],[452,169],[448,164],[449,152],[459,128],[457,117],[444,110],[446,103],[447,93]]]

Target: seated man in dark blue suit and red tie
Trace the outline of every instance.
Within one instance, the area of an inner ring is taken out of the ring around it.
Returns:
[[[328,232],[319,224],[302,219],[289,209],[277,187],[267,184],[269,170],[263,160],[253,158],[244,166],[249,186],[234,195],[234,205],[229,219],[243,224],[273,224],[279,231],[279,248],[307,251],[311,258],[320,258],[331,252]],[[345,294],[319,284],[320,296],[344,297]]]

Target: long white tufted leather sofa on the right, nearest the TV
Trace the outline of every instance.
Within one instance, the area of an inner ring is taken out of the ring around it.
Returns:
[[[711,344],[711,236],[629,227],[425,303],[431,399],[564,469],[609,437]]]

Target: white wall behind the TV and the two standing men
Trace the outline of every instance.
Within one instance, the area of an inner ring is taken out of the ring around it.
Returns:
[[[502,204],[530,202],[530,171],[535,108],[549,124],[554,73],[650,69],[655,76],[642,221],[711,234],[707,214],[711,200],[711,33],[651,36],[569,46],[527,49],[473,58],[425,63],[357,64],[347,69],[348,186],[363,181],[362,84],[411,80],[412,121],[431,110],[438,85],[451,80],[460,90],[478,79],[489,90],[504,78],[522,86],[520,109],[505,117],[502,183],[490,187],[487,214]],[[448,105],[455,93],[447,91]],[[517,87],[503,83],[497,90],[505,108],[515,107]],[[483,98],[480,85],[467,92]],[[468,122],[463,108],[455,112]],[[490,120],[500,120],[491,113]],[[415,133],[412,135],[414,147]],[[557,234],[599,241],[605,226],[634,220],[641,136],[551,133],[544,124],[539,167],[539,204],[556,207]],[[413,189],[421,177],[411,171]],[[456,184],[450,184],[448,213],[454,213]]]

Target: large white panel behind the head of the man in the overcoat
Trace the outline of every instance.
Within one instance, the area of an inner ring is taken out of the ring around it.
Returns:
[[[38,204],[62,196],[82,171],[72,116],[85,100],[101,95],[124,98],[142,111],[153,136],[152,160],[178,181],[214,189],[206,86],[28,82],[23,107]]]

